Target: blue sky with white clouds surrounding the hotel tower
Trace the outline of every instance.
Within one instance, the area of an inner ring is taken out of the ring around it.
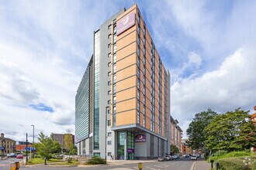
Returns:
[[[93,32],[134,3],[171,73],[171,116],[185,132],[195,114],[256,105],[256,2],[1,1],[0,133],[29,141],[74,133],[74,97]],[[184,133],[185,134],[185,133]]]

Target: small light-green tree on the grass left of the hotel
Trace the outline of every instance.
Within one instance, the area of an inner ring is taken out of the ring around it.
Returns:
[[[41,158],[47,158],[47,160],[49,160],[52,158],[52,154],[61,151],[61,145],[57,141],[54,141],[52,138],[43,134],[42,131],[39,134],[38,140],[40,142],[35,143],[35,148],[37,153],[41,155]]]

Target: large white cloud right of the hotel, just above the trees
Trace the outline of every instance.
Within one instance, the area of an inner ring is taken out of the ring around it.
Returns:
[[[250,110],[256,100],[256,50],[251,46],[237,49],[220,68],[192,79],[182,79],[171,86],[171,114],[188,128],[194,114],[211,108],[226,113],[242,107]]]

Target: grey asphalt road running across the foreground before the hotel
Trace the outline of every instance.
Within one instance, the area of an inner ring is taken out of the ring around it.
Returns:
[[[10,159],[10,158],[9,158]],[[13,159],[13,158],[12,158]],[[5,166],[0,166],[0,169],[2,170],[9,170],[10,168],[10,163],[15,162],[15,160],[6,160],[5,164],[1,163],[0,165],[5,165]],[[143,170],[164,170],[164,169],[171,169],[171,170],[190,170],[192,167],[192,164],[195,161],[191,161],[189,158],[181,158],[178,160],[172,160],[168,162],[148,162],[144,163]],[[8,164],[8,166],[6,166]],[[96,165],[96,166],[88,166],[88,167],[24,167],[21,166],[19,168],[20,170],[33,170],[33,169],[38,169],[38,170],[101,170],[101,169],[113,169],[113,170],[135,170],[137,168],[137,164],[127,164],[127,165]]]

